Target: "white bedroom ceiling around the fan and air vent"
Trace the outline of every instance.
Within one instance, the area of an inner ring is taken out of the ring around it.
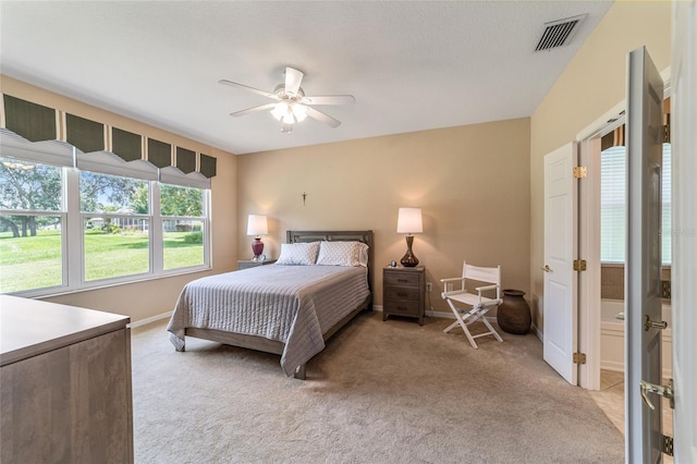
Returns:
[[[1,1],[0,72],[248,154],[530,115],[612,1]],[[545,24],[587,16],[534,51]],[[285,66],[317,107],[292,134],[268,111]]]

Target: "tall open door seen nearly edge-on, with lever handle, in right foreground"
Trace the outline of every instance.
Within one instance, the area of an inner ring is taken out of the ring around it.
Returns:
[[[661,160],[663,80],[645,47],[627,69],[627,243],[625,269],[625,445],[629,463],[661,462]]]

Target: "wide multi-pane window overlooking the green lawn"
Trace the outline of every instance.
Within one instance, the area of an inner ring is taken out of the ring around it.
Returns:
[[[209,190],[134,175],[0,158],[0,291],[40,295],[209,268]]]

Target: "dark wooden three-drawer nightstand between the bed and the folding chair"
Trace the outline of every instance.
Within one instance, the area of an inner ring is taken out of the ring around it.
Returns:
[[[424,266],[382,269],[382,320],[394,315],[424,323],[425,270]]]

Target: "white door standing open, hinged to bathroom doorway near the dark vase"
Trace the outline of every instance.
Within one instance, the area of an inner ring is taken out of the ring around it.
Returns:
[[[564,145],[545,157],[543,357],[566,381],[577,383],[576,349],[577,148]]]

